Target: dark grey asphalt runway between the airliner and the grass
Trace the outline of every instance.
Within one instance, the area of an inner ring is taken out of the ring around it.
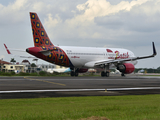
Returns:
[[[160,77],[0,77],[0,99],[160,94]]]

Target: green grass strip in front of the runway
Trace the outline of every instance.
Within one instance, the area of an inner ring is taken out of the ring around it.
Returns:
[[[160,120],[160,95],[0,100],[0,120]]]

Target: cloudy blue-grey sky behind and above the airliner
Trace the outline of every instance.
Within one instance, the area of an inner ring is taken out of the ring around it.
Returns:
[[[144,56],[155,42],[157,56],[138,60],[136,68],[160,66],[160,0],[0,0],[0,59],[13,57],[4,43],[22,50],[34,46],[29,12],[38,14],[54,45],[126,48]]]

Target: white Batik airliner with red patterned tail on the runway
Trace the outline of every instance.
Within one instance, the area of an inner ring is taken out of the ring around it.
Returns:
[[[29,54],[47,62],[69,67],[71,76],[87,72],[89,68],[102,68],[102,77],[109,76],[109,69],[115,67],[124,76],[134,71],[137,60],[154,57],[156,53],[154,42],[153,54],[136,57],[133,52],[121,48],[71,47],[55,46],[50,41],[38,15],[30,12],[34,47],[26,49]]]

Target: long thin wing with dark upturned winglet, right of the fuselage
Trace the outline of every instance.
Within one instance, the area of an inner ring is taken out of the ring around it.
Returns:
[[[154,42],[152,42],[152,46],[153,46],[153,54],[152,55],[142,56],[142,57],[132,57],[132,58],[126,58],[126,59],[116,59],[116,60],[109,60],[109,61],[108,60],[102,60],[102,61],[95,62],[94,66],[106,65],[106,64],[109,64],[109,63],[113,63],[113,64],[114,63],[123,63],[125,61],[134,61],[134,60],[154,57],[154,56],[157,55]]]

